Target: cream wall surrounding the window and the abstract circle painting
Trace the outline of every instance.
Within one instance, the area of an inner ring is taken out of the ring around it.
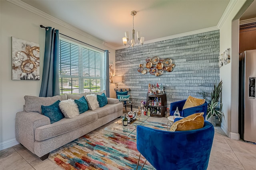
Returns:
[[[110,51],[110,63],[115,62],[115,50],[81,35],[82,31],[72,31],[55,21],[48,20],[11,2],[0,0],[0,150],[16,145],[15,116],[22,111],[24,96],[39,96],[40,81],[12,80],[12,41],[11,37],[40,44],[40,78],[44,61],[45,29],[39,27],[55,27],[60,33],[86,42],[100,49]],[[75,29],[74,29],[75,30]],[[80,33],[77,33],[80,32]],[[96,38],[95,38],[96,39]]]

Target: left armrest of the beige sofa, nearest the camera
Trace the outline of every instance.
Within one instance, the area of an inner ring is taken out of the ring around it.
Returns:
[[[20,111],[16,113],[15,120],[16,140],[34,153],[35,130],[48,124],[50,124],[50,119],[45,115],[37,112]]]

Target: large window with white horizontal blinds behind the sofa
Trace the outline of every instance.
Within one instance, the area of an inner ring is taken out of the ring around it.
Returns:
[[[104,53],[60,38],[59,59],[61,94],[104,89]]]

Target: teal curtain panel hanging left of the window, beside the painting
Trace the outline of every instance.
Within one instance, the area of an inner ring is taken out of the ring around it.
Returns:
[[[40,97],[60,95],[59,86],[59,30],[46,27],[44,68]]]

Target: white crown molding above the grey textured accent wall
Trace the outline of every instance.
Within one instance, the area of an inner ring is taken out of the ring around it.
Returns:
[[[145,41],[144,44],[155,43],[155,42],[164,41],[164,40],[168,40],[168,39],[185,37],[185,36],[188,36],[188,35],[194,35],[194,34],[198,34],[198,33],[205,33],[205,32],[216,31],[216,30],[219,30],[219,28],[217,26],[204,28],[204,29],[198,29],[196,31],[190,31],[190,32],[186,32],[186,33],[180,33],[180,34],[176,34],[176,35],[170,35],[170,36],[167,36],[167,37],[152,39],[152,40],[149,40],[149,41]],[[121,46],[121,47],[117,47],[116,50],[124,49],[124,48],[125,48],[124,46]]]

